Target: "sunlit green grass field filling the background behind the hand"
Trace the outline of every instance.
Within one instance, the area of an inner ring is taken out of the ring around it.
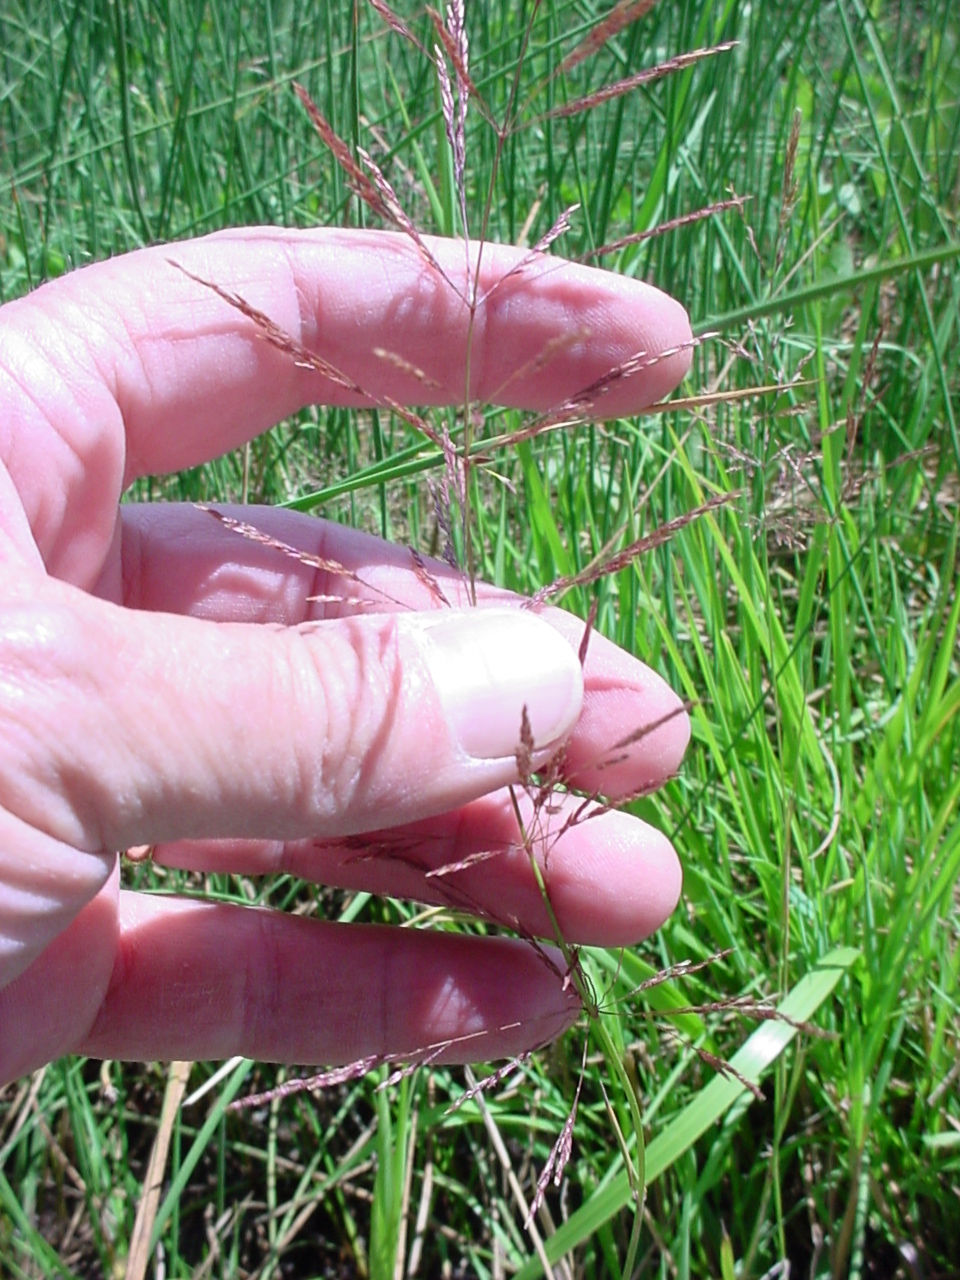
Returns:
[[[428,40],[422,9],[398,8]],[[481,572],[527,593],[736,490],[564,599],[581,616],[595,599],[598,626],[695,704],[681,776],[636,806],[682,852],[682,905],[636,952],[585,957],[625,1070],[611,1076],[594,1033],[572,1158],[529,1233],[518,1199],[570,1114],[582,1034],[452,1115],[466,1084],[447,1069],[228,1114],[284,1073],[58,1062],[0,1094],[5,1275],[137,1275],[147,1258],[174,1277],[616,1277],[625,1261],[724,1280],[956,1274],[960,13],[954,0],[662,0],[561,70],[603,13],[468,6],[471,72],[498,119],[529,42],[490,238],[532,243],[579,202],[557,247],[575,256],[749,197],[603,259],[719,334],[682,389],[701,402],[498,451],[502,480],[474,472]],[[719,41],[737,44],[549,114]],[[293,79],[424,230],[458,232],[436,73],[372,8],[5,0],[0,297],[219,227],[356,224]],[[474,110],[474,230],[494,145]],[[518,425],[492,412],[483,430]],[[138,495],[296,502],[430,552],[439,466],[389,415],[311,410]],[[347,919],[417,914],[288,879],[205,888]],[[787,1001],[827,1034],[751,1021],[745,997]],[[762,1100],[696,1050],[739,1055]],[[639,1235],[616,1135],[637,1166],[628,1085],[649,1180]],[[165,1093],[163,1190],[133,1240]]]

